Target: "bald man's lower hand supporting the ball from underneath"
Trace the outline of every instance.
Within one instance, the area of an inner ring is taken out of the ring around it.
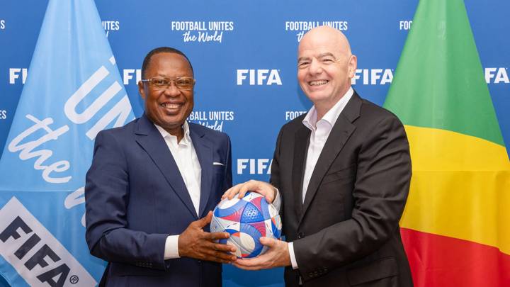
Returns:
[[[260,242],[269,247],[268,251],[255,258],[237,259],[234,266],[244,270],[271,269],[290,266],[288,243],[269,237],[261,237]]]

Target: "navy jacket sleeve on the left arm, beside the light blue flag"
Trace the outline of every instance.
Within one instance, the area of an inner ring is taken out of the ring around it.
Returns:
[[[130,230],[128,164],[123,148],[110,131],[98,133],[94,157],[86,174],[86,242],[91,254],[154,269],[165,269],[166,234]]]

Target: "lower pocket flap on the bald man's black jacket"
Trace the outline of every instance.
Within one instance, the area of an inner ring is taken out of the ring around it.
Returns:
[[[369,264],[347,270],[347,278],[351,286],[366,283],[363,286],[395,286],[398,275],[395,257],[385,257]],[[370,283],[368,283],[370,282]]]

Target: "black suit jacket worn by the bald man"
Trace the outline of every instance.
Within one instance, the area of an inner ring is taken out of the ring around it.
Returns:
[[[399,219],[411,160],[402,123],[356,92],[319,155],[302,203],[310,130],[305,115],[283,126],[271,183],[283,196],[283,233],[299,269],[287,286],[412,286]]]

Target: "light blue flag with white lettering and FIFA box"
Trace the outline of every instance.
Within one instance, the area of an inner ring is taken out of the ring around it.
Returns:
[[[134,119],[93,0],[50,0],[0,159],[0,274],[12,286],[96,286],[85,242],[94,138]]]

